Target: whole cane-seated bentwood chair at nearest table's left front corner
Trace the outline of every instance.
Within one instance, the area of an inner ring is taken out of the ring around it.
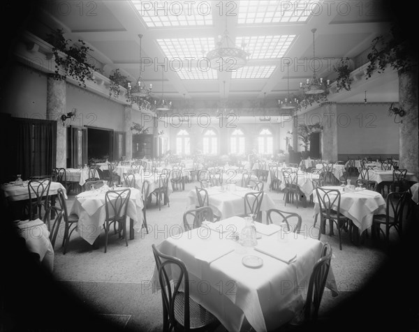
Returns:
[[[152,244],[163,303],[163,332],[214,331],[220,322],[189,297],[189,273],[181,259],[164,255]],[[172,271],[179,275],[172,277]],[[172,280],[173,278],[173,280]]]

